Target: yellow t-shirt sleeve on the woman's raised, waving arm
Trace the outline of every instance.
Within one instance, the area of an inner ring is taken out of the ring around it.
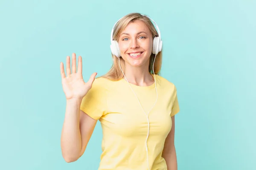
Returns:
[[[80,110],[91,118],[98,120],[107,113],[107,97],[104,85],[95,79],[92,88],[87,92],[81,102]]]

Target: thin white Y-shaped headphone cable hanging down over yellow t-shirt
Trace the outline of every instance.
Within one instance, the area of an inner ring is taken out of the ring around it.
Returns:
[[[155,62],[156,56],[157,56],[157,54],[155,54],[154,62]],[[119,57],[118,57],[118,59],[119,59]],[[154,73],[154,62],[153,62],[153,73]],[[119,59],[119,66],[120,66],[120,69],[121,69],[121,71],[122,71],[122,68],[121,68],[121,65],[120,65],[120,59]],[[125,77],[125,74],[124,74],[123,71],[122,71],[122,74],[123,74],[124,77]],[[126,77],[125,77],[125,79],[126,79]],[[127,79],[126,79],[126,81],[128,82]],[[157,93],[157,83],[156,83],[156,76],[155,76],[155,74],[154,74],[154,82],[155,82],[155,88],[156,88],[156,93]],[[137,97],[137,99],[138,99],[138,101],[139,101],[139,103],[140,103],[140,100],[139,100],[138,96],[135,94],[135,92],[134,92],[134,90],[132,89],[132,87],[131,87],[131,85],[130,85],[129,82],[128,82],[128,84],[129,84],[131,90],[133,91],[134,95]],[[158,94],[157,94],[157,99],[158,99]],[[157,99],[156,99],[154,105],[157,103]],[[154,105],[152,106],[152,108],[154,107]],[[145,111],[144,111],[144,109],[143,109],[141,103],[140,103],[140,107],[142,108],[143,112],[145,113]],[[152,110],[152,108],[148,111],[148,114],[149,114],[149,112]],[[148,120],[148,134],[147,134],[147,138],[146,138],[146,142],[145,142],[145,144],[146,144],[146,151],[147,151],[147,163],[148,163],[148,146],[147,146],[147,141],[148,141],[148,136],[149,136],[149,119],[148,119],[148,114],[145,113],[145,115],[147,116],[147,120]],[[150,168],[149,168],[149,163],[148,163],[148,170],[150,170]]]

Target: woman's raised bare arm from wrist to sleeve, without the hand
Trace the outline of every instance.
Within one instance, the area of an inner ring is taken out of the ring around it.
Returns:
[[[61,132],[62,156],[67,162],[79,159],[90,140],[97,120],[80,110],[81,100],[67,100]]]

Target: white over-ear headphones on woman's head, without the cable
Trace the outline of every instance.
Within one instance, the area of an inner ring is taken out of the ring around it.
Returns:
[[[142,16],[145,16],[145,17],[148,17],[146,15],[143,15],[141,14]],[[123,18],[123,17],[122,17]],[[121,20],[122,18],[120,18],[119,20]],[[153,21],[153,23],[156,25],[157,27],[157,32],[159,34],[158,37],[154,37],[154,40],[153,40],[153,49],[152,49],[152,53],[153,54],[158,54],[160,51],[162,51],[162,40],[161,40],[161,34],[160,34],[160,30],[157,26],[157,23],[154,22],[154,20],[152,20],[150,17],[148,17],[148,19],[150,19],[151,21]],[[119,21],[118,20],[118,21]],[[118,23],[118,21],[116,23]],[[111,45],[110,45],[110,48],[111,48],[111,52],[113,55],[115,55],[117,58],[121,57],[121,54],[120,54],[120,50],[119,50],[119,45],[118,45],[118,42],[116,40],[113,40],[113,31],[114,31],[114,28],[116,26],[116,23],[114,24],[113,28],[112,28],[112,31],[111,31]]]

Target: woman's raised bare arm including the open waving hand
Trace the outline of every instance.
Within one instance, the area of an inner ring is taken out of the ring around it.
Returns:
[[[61,132],[61,152],[65,161],[73,162],[84,153],[97,122],[80,110],[81,102],[92,88],[97,73],[93,73],[85,83],[82,76],[82,57],[79,56],[77,68],[75,53],[72,54],[72,65],[69,56],[66,60],[67,73],[64,71],[63,62],[60,64],[62,88],[67,99]]]

